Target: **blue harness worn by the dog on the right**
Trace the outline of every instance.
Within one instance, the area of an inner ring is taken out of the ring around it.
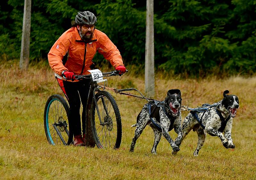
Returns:
[[[210,104],[203,104],[202,108],[201,109],[197,109],[197,110],[191,110],[190,113],[194,116],[194,118],[196,119],[196,121],[200,124],[200,126],[205,129],[205,126],[204,124],[202,123],[202,118],[204,116],[204,113],[209,110],[209,108],[216,108],[219,104],[218,103],[214,103],[212,105]],[[208,109],[206,110],[205,107],[208,107]],[[204,112],[201,119],[199,119],[197,113],[198,112]],[[218,109],[216,109],[216,113],[218,114],[218,116],[220,117],[220,121],[221,121],[221,124],[220,124],[220,128],[218,129],[218,131],[220,132],[223,132],[226,125],[227,125],[227,122],[228,120],[230,119],[230,115],[228,115],[227,119],[225,119],[222,114],[220,113],[220,111]],[[210,134],[211,136],[215,136],[214,134],[211,134],[211,133],[208,133]]]

